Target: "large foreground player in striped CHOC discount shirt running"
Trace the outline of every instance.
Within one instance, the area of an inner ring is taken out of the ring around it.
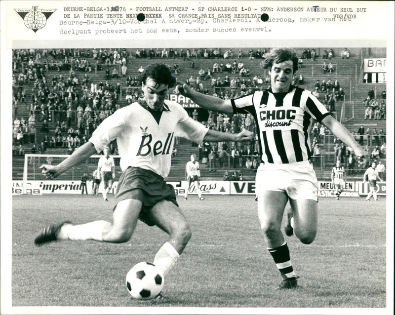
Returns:
[[[317,180],[310,161],[309,139],[312,118],[352,147],[356,156],[364,155],[364,151],[310,91],[291,85],[298,69],[298,57],[291,49],[272,49],[264,55],[263,64],[269,70],[271,88],[238,99],[204,95],[186,84],[176,89],[207,110],[251,114],[255,118],[263,162],[256,175],[258,217],[268,250],[283,278],[278,289],[287,289],[298,286],[298,276],[281,233],[288,200],[291,205],[288,234],[295,233],[303,243],[310,244],[317,231]],[[293,227],[289,226],[290,221]]]

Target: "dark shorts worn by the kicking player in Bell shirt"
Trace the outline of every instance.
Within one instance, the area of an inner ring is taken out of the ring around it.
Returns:
[[[173,202],[177,207],[174,187],[167,184],[163,177],[153,171],[129,166],[118,181],[117,201],[125,199],[138,199],[143,202],[139,219],[149,226],[155,225],[150,218],[150,210],[161,200]]]

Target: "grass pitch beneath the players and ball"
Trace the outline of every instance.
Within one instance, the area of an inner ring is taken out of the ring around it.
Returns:
[[[179,196],[193,232],[165,277],[170,303],[132,300],[128,270],[154,260],[167,235],[139,222],[123,244],[34,238],[49,223],[111,220],[114,196],[16,196],[12,213],[12,306],[385,308],[386,202],[320,198],[316,240],[286,237],[301,287],[281,281],[260,231],[253,196]],[[285,219],[285,216],[284,216]],[[81,313],[80,313],[81,314]],[[362,314],[362,313],[360,313]]]

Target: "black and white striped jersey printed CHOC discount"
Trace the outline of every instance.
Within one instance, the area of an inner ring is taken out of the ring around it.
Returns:
[[[320,122],[329,115],[310,91],[292,85],[285,93],[269,89],[231,101],[234,113],[250,113],[255,118],[265,163],[309,160],[312,118]]]

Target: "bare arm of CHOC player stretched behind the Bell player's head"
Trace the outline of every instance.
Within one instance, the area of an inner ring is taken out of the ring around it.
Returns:
[[[188,84],[179,84],[175,88],[176,93],[189,97],[200,107],[217,113],[233,114],[231,100],[223,100],[219,97],[199,93],[191,89]]]

